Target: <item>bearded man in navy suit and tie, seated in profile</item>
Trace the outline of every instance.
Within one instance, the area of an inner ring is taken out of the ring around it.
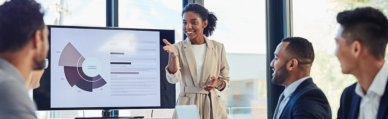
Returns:
[[[310,77],[314,61],[311,42],[301,37],[285,38],[274,55],[271,82],[286,89],[279,97],[273,119],[331,119],[329,102]]]

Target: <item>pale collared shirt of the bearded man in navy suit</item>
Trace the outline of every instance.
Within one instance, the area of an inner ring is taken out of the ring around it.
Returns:
[[[286,87],[286,89],[284,89],[284,91],[283,91],[284,99],[282,100],[282,102],[280,102],[279,109],[278,109],[278,112],[277,112],[277,116],[276,116],[275,119],[279,119],[280,118],[280,115],[282,115],[283,109],[284,109],[284,107],[286,107],[286,104],[287,104],[288,100],[290,99],[291,95],[294,93],[296,88],[298,88],[300,83],[302,83],[303,81],[305,81],[308,78],[311,78],[311,77],[310,76],[306,76],[306,77],[303,77],[303,78],[301,78],[299,80],[296,80],[295,82],[293,82],[290,85],[288,85],[288,87]],[[279,99],[280,99],[280,97],[279,97]]]

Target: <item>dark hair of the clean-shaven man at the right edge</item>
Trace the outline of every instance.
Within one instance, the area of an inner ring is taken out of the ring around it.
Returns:
[[[337,15],[343,27],[342,37],[346,43],[360,41],[376,58],[384,58],[388,42],[388,20],[383,13],[372,7],[355,8]]]

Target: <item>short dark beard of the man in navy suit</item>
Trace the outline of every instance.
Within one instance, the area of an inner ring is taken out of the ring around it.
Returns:
[[[285,61],[282,66],[280,66],[279,69],[276,70],[275,76],[272,78],[271,82],[277,85],[284,85],[284,82],[286,81],[289,73],[287,71],[287,62]]]

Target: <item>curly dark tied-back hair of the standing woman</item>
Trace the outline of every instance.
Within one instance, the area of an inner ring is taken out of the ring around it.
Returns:
[[[218,20],[213,12],[209,12],[208,9],[197,3],[190,3],[186,5],[186,7],[182,10],[182,17],[185,12],[194,12],[202,19],[202,21],[208,20],[208,26],[203,29],[203,34],[206,37],[213,35],[213,31],[216,29]]]

